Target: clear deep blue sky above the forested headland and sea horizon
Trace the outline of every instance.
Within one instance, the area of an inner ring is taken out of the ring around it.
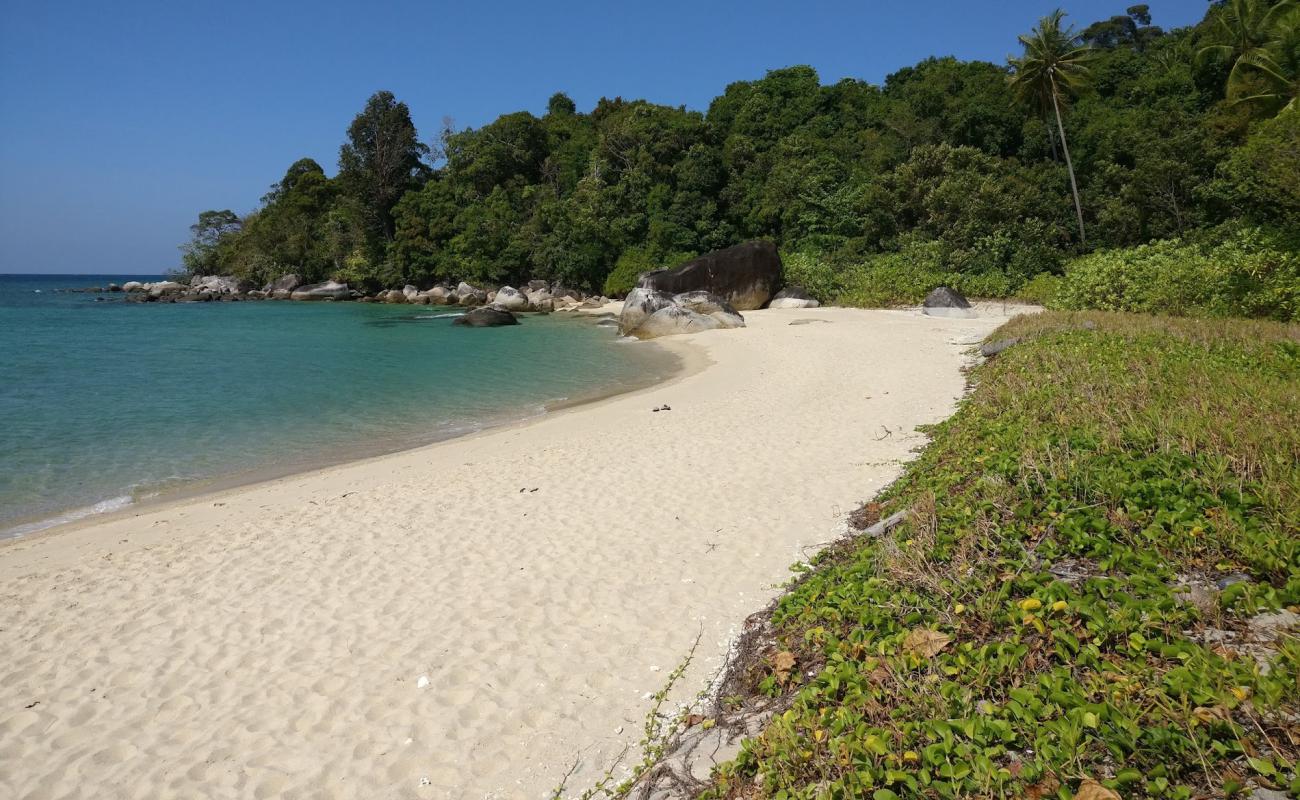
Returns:
[[[295,159],[333,174],[387,88],[421,135],[541,113],[566,91],[703,109],[732,81],[811,64],[880,82],[931,55],[1001,62],[1063,4],[1080,27],[1132,0],[710,3],[0,0],[0,273],[156,273],[199,211],[257,204]],[[1205,0],[1154,0],[1192,23]]]

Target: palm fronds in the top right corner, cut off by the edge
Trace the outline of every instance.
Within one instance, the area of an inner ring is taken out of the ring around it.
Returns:
[[[1300,91],[1300,0],[1228,0],[1197,59],[1231,61],[1227,98],[1278,111]]]

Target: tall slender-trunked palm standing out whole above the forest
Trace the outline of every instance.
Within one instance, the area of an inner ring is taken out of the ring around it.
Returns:
[[[1037,26],[1020,36],[1024,55],[1011,59],[1011,86],[1015,94],[1031,101],[1044,114],[1056,114],[1057,133],[1061,137],[1061,150],[1065,152],[1065,167],[1070,173],[1070,191],[1074,193],[1074,213],[1079,220],[1079,245],[1087,247],[1083,234],[1083,204],[1079,203],[1079,183],[1074,177],[1074,163],[1070,160],[1070,144],[1065,138],[1065,122],[1061,121],[1061,101],[1067,95],[1082,92],[1088,86],[1088,60],[1092,51],[1080,42],[1074,27],[1062,27],[1065,12],[1057,9],[1039,20]]]

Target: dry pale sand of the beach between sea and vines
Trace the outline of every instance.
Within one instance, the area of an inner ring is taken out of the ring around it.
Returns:
[[[651,389],[3,545],[0,796],[536,799],[575,761],[581,791],[1008,311],[746,312],[660,340],[688,368]]]

